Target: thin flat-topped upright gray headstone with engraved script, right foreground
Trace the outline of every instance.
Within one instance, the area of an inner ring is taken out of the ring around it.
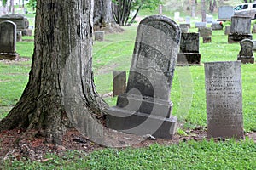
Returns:
[[[241,62],[212,62],[204,65],[208,137],[242,139]]]

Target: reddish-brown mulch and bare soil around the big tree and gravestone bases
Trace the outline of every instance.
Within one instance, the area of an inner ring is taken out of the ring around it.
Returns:
[[[47,161],[44,159],[46,153],[55,153],[61,156],[67,150],[79,150],[85,153],[90,153],[95,150],[102,150],[106,146],[91,142],[86,137],[82,136],[76,129],[68,129],[63,138],[62,145],[47,144],[43,137],[35,137],[34,131],[26,132],[24,138],[22,129],[14,129],[10,131],[3,131],[0,133],[0,160],[27,158],[32,161]],[[147,147],[150,144],[178,144],[188,140],[201,141],[207,139],[207,129],[198,127],[195,130],[186,132],[187,136],[175,135],[172,140],[170,139],[154,139],[152,136],[130,136],[131,138],[124,137],[123,133],[113,133],[113,138],[118,138],[120,141],[129,141],[137,139],[138,142],[132,143],[132,148]],[[256,133],[247,133],[246,136],[256,142]],[[126,140],[125,140],[126,139]],[[110,139],[111,140],[111,139]],[[216,141],[225,139],[216,139]],[[128,144],[129,145],[129,144]]]

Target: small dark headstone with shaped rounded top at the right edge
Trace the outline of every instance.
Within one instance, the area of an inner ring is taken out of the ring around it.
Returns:
[[[241,50],[237,55],[237,60],[241,60],[241,63],[254,63],[253,56],[253,41],[249,39],[244,39],[240,42]]]

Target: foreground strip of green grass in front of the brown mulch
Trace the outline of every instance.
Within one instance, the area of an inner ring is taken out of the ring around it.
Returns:
[[[252,140],[227,142],[203,140],[169,146],[153,144],[141,149],[105,149],[89,155],[68,151],[48,154],[38,161],[5,161],[19,169],[255,169],[256,144]]]

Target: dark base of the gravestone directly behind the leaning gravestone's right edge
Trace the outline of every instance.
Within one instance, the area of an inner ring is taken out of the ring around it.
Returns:
[[[200,65],[201,54],[179,53],[177,54],[177,65]]]

